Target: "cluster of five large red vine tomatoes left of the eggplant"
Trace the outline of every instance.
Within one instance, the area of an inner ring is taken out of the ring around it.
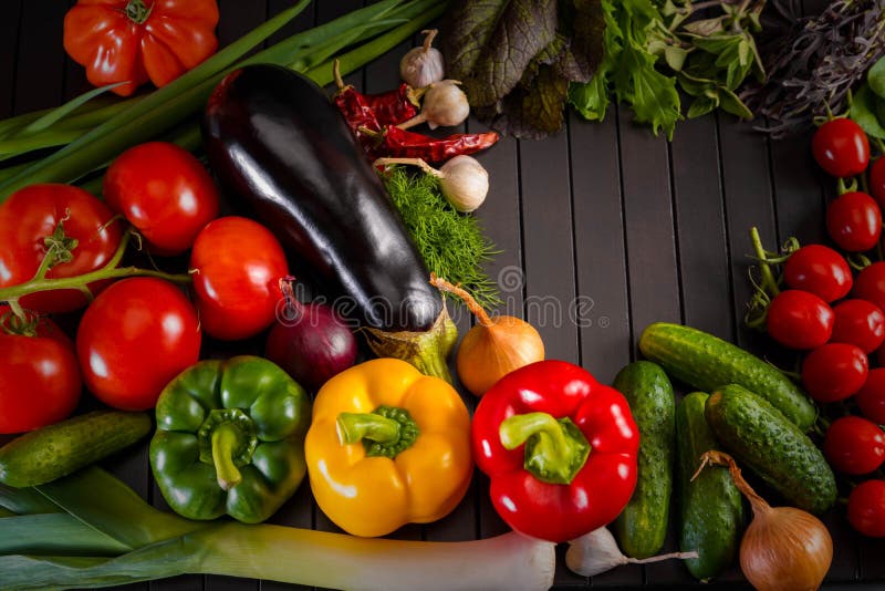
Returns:
[[[218,217],[216,186],[188,152],[135,146],[111,165],[103,194],[32,185],[0,206],[0,288],[96,276],[0,308],[0,433],[64,418],[83,384],[108,406],[150,408],[198,361],[204,333],[247,339],[274,321],[289,274],[282,247],[256,221]],[[189,250],[177,279],[192,288],[149,268],[115,281],[121,273],[107,271],[121,270],[131,243],[160,257]],[[84,307],[73,341],[45,317]]]

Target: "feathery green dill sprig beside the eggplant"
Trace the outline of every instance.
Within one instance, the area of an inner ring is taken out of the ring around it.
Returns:
[[[482,234],[479,220],[451,207],[433,175],[397,166],[385,174],[384,184],[427,268],[460,283],[483,308],[498,307],[498,286],[482,266],[500,251]]]

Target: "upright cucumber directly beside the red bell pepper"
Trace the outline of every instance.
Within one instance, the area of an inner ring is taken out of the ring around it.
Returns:
[[[648,558],[667,536],[676,447],[673,386],[658,365],[637,361],[618,372],[614,387],[627,398],[639,428],[639,455],[636,489],[613,531],[625,554]]]

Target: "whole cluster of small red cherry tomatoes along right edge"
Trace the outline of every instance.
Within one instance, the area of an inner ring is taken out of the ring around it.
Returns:
[[[844,190],[830,204],[831,239],[852,253],[875,249],[882,239],[885,157],[871,165],[866,134],[846,118],[823,124],[812,153],[841,188],[861,176],[870,189]],[[802,384],[839,415],[823,440],[830,465],[848,476],[872,475],[885,463],[885,262],[853,276],[840,252],[809,245],[793,251],[782,271],[788,289],[771,298],[766,328],[778,343],[806,352]],[[874,477],[855,486],[847,515],[861,533],[885,537],[885,480]]]

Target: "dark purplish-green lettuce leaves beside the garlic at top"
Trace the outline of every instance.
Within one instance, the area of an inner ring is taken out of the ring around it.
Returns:
[[[562,127],[569,83],[602,61],[604,28],[602,0],[462,0],[442,50],[481,120],[540,138]]]

